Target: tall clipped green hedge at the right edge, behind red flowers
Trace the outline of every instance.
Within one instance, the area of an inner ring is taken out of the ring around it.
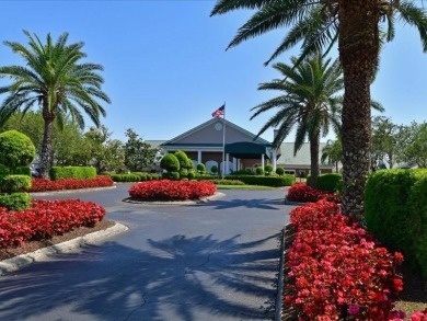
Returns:
[[[365,191],[368,230],[427,279],[427,170],[380,170]]]

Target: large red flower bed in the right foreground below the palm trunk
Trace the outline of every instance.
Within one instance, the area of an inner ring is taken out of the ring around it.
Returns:
[[[285,301],[299,320],[393,320],[393,299],[403,289],[395,273],[402,254],[377,247],[334,203],[298,207],[291,222],[296,234]]]

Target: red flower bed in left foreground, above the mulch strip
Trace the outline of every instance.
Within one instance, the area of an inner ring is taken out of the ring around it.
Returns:
[[[93,227],[105,216],[105,209],[79,199],[33,200],[25,210],[0,207],[0,247],[51,238],[78,227]]]

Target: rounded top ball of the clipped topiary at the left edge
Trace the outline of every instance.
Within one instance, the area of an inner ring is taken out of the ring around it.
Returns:
[[[8,130],[0,134],[0,163],[13,170],[16,167],[30,165],[35,158],[35,147],[30,137]]]

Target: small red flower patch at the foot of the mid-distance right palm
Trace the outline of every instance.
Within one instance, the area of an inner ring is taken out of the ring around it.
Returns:
[[[335,195],[332,192],[315,190],[305,183],[296,183],[288,190],[288,195],[286,196],[288,200],[291,202],[318,202],[321,199],[326,199],[328,202],[341,202],[341,196]]]

